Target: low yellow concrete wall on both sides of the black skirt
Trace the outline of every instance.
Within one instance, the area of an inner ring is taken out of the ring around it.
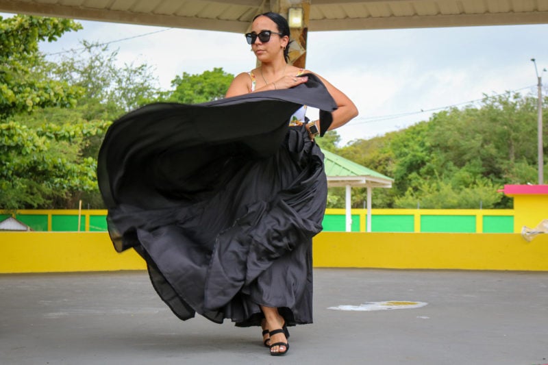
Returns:
[[[102,232],[0,232],[0,273],[143,270]],[[548,271],[548,235],[323,232],[315,267]]]

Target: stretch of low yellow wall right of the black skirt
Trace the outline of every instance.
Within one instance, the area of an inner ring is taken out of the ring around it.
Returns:
[[[314,266],[546,271],[548,235],[323,232]]]

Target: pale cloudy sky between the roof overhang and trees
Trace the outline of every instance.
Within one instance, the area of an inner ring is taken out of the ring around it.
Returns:
[[[242,34],[79,22],[84,29],[42,42],[40,50],[77,49],[82,40],[112,42],[109,49],[118,49],[120,64],[149,64],[163,89],[183,72],[222,67],[237,75],[255,67]],[[477,103],[484,95],[519,91],[536,96],[531,58],[547,92],[548,73],[542,71],[548,68],[547,34],[548,25],[309,32],[306,68],[358,107],[360,115],[337,129],[342,147],[427,121],[451,106]]]

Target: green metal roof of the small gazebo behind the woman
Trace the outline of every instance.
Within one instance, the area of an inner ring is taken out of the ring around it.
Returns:
[[[342,158],[335,153],[322,150],[325,155],[325,174],[330,186],[360,185],[379,186],[389,188],[394,179],[377,173],[377,171],[366,168],[356,162]],[[350,182],[349,182],[350,181]],[[353,183],[351,181],[354,181]],[[361,183],[360,183],[361,182]],[[357,184],[358,183],[358,184]]]

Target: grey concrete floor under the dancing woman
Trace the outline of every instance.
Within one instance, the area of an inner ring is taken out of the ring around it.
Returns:
[[[548,273],[316,269],[313,325],[177,319],[147,273],[0,275],[0,364],[548,364]],[[373,301],[425,307],[329,310]]]

